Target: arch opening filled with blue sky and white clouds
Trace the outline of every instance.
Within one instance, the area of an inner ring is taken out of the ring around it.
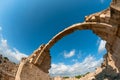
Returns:
[[[51,77],[74,77],[93,72],[103,61],[104,46],[91,30],[76,31],[63,37],[50,50]]]

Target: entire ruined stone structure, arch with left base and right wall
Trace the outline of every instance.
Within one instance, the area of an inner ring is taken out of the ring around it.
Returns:
[[[113,0],[110,7],[102,12],[85,17],[85,22],[74,24],[54,36],[47,44],[41,45],[31,56],[21,61],[15,80],[50,80],[50,48],[61,38],[76,30],[92,30],[105,40],[107,53],[104,62],[94,73],[81,80],[120,79],[120,0]]]

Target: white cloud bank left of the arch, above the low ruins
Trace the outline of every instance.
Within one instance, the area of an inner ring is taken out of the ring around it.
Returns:
[[[2,30],[2,27],[0,28]],[[8,57],[12,62],[18,63],[22,57],[27,57],[28,55],[21,53],[16,48],[10,48],[7,43],[7,40],[2,37],[0,33],[0,54],[5,57]]]

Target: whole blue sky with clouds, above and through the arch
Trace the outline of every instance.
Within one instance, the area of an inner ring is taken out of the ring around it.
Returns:
[[[0,0],[0,52],[18,62],[21,57],[32,54],[41,44],[46,44],[58,32],[72,24],[83,22],[86,15],[108,8],[110,2],[111,0]],[[102,61],[104,45],[105,42],[90,30],[77,31],[64,37],[50,50],[50,73],[71,76],[94,70]],[[90,62],[87,61],[92,62],[93,66],[90,67]],[[83,64],[86,67],[81,67]],[[70,67],[72,69],[68,70]],[[86,70],[83,71],[82,68]]]

